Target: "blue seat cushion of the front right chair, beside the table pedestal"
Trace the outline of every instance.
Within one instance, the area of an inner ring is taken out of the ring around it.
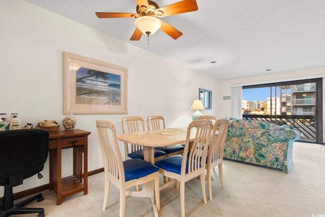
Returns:
[[[161,168],[163,170],[173,172],[173,173],[177,173],[177,174],[181,174],[182,159],[183,159],[183,156],[174,155],[174,156],[170,156],[170,157],[161,159],[159,161],[156,161],[156,163],[154,165],[156,165],[157,167],[159,167],[159,168]],[[185,171],[185,173],[188,172],[187,163],[188,162],[186,162],[186,171]]]

